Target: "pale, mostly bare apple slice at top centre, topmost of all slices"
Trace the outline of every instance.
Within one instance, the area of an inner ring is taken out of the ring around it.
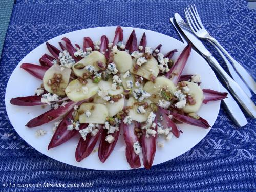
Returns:
[[[126,51],[114,53],[114,63],[120,73],[124,73],[132,67],[132,57]]]

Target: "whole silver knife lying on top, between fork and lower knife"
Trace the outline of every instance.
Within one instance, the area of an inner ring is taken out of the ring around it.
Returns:
[[[228,90],[233,95],[234,98],[240,103],[244,111],[253,118],[256,118],[256,106],[251,101],[251,99],[246,95],[246,93],[240,88],[240,86],[226,73],[226,71],[220,66],[218,61],[211,55],[211,53],[206,49],[203,43],[190,31],[188,31],[184,26],[187,26],[184,20],[178,13],[174,15],[175,20],[180,27],[181,31],[189,39],[189,41],[198,49],[199,52],[209,61],[209,64],[215,68],[219,73],[223,82],[226,84]]]

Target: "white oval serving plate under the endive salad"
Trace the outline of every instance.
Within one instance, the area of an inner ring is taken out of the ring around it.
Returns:
[[[82,29],[78,31],[73,31],[60,36],[57,36],[48,42],[54,46],[58,45],[58,42],[63,37],[68,37],[73,44],[79,44],[82,47],[83,37],[89,36],[93,41],[99,40],[101,35],[106,35],[110,41],[113,40],[115,35],[116,27],[98,27]],[[123,29],[123,41],[126,42],[127,38],[131,34],[132,30],[135,29],[137,34],[137,39],[140,39],[143,32],[147,36],[147,46],[156,47],[158,44],[162,44],[161,53],[167,53],[172,49],[177,49],[178,53],[175,53],[173,60],[175,61],[180,55],[181,51],[185,48],[185,45],[167,35],[157,33],[155,31],[122,27]],[[114,151],[110,157],[105,161],[105,163],[100,162],[98,159],[98,152],[93,152],[89,157],[77,162],[75,160],[75,150],[78,143],[78,136],[72,138],[66,143],[55,147],[51,150],[47,150],[48,144],[53,135],[52,128],[53,123],[48,123],[39,127],[28,129],[25,125],[26,123],[46,112],[49,108],[42,109],[41,106],[15,106],[10,104],[10,99],[20,96],[33,95],[37,87],[40,86],[41,81],[35,77],[28,74],[25,70],[20,69],[19,66],[24,63],[39,63],[39,58],[44,54],[48,53],[46,44],[41,44],[33,51],[31,51],[22,61],[19,62],[17,67],[14,69],[6,88],[5,103],[6,110],[10,122],[12,123],[16,132],[22,137],[28,144],[30,144],[37,151],[66,164],[70,164],[77,167],[96,169],[96,170],[129,170],[131,167],[125,158],[125,143],[121,135],[118,142],[114,148]],[[39,65],[39,64],[38,64]],[[187,64],[184,68],[182,74],[200,74],[201,75],[201,88],[212,89],[219,91],[219,82],[214,74],[214,72],[209,67],[208,63],[194,50],[191,51]],[[220,109],[220,101],[209,102],[207,105],[203,104],[198,111],[198,114],[206,119],[208,123],[212,126],[218,116]],[[179,138],[173,137],[170,141],[164,142],[163,148],[157,148],[155,159],[153,165],[163,163],[165,161],[176,158],[183,153],[190,150],[197,143],[199,143],[210,131],[210,129],[203,129],[201,127],[196,127],[188,124],[178,124],[177,125],[183,133]],[[38,129],[44,129],[47,134],[42,137],[36,137],[35,132]],[[96,149],[98,143],[96,145]],[[142,161],[142,154],[140,154],[140,159]],[[143,163],[141,163],[143,167]]]

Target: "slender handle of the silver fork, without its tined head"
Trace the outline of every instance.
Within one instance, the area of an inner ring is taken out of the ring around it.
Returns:
[[[216,46],[220,48],[220,50],[227,55],[229,60],[232,62],[234,68],[236,71],[239,73],[241,78],[244,79],[244,82],[247,84],[247,86],[254,92],[256,93],[256,83],[254,79],[250,76],[250,74],[241,66],[239,62],[234,60],[234,58],[222,47],[222,45],[219,44],[219,42],[214,38],[214,37],[208,37],[208,40],[214,42]]]

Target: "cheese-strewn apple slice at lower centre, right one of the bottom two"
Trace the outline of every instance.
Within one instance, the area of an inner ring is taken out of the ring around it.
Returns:
[[[138,101],[135,100],[133,97],[130,97],[127,101],[127,106],[132,106],[133,108],[129,109],[129,114],[132,117],[132,120],[137,121],[137,122],[144,122],[147,120],[148,115],[150,114],[150,112],[152,111],[151,107],[150,107],[150,103],[151,101],[148,99],[143,100],[143,102],[147,102],[148,103],[148,107],[145,109],[145,113],[138,113],[137,112],[137,108],[139,107]]]

